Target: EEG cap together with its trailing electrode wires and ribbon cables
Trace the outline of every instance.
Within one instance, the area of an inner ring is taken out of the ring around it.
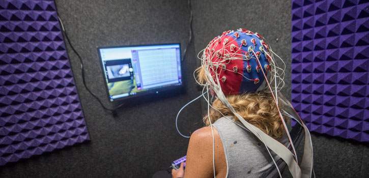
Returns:
[[[278,67],[274,56],[280,60],[284,66],[283,68]],[[241,127],[251,132],[265,144],[265,147],[268,150],[280,177],[280,171],[272,155],[270,154],[269,149],[286,162],[293,177],[311,177],[311,173],[313,172],[313,146],[311,145],[310,133],[302,122],[301,118],[293,109],[291,103],[289,103],[285,98],[278,98],[278,91],[284,85],[283,76],[285,64],[283,63],[283,60],[273,52],[271,47],[266,43],[266,40],[258,33],[252,33],[242,28],[238,29],[237,31],[223,32],[220,36],[215,37],[207,45],[207,47],[199,53],[197,57],[202,61],[202,69],[204,70],[206,80],[206,83],[200,83],[198,81],[197,83],[203,85],[204,90],[205,88],[207,89],[205,93],[208,93],[208,97],[205,97],[204,92],[201,96],[204,96],[205,100],[208,102],[208,112],[209,107],[212,107],[208,92],[210,87],[215,93],[216,97],[226,107],[228,107],[229,110],[232,111],[242,123],[243,126]],[[225,97],[225,95],[259,91],[269,91],[271,93],[271,96],[273,97],[278,108],[280,119],[289,138],[292,152],[279,141],[270,137],[259,128],[246,122],[244,118],[235,111]],[[200,98],[201,96],[197,97],[196,99]],[[280,104],[286,106],[283,107],[283,110],[279,109],[278,101],[283,101],[283,103]],[[176,126],[179,113],[177,114],[176,118]],[[296,120],[297,123],[304,128],[304,155],[300,166],[298,165],[296,150],[282,113]],[[210,127],[212,127],[210,117],[209,122]],[[183,134],[181,135],[184,136]],[[214,161],[213,134],[213,168],[215,177]]]

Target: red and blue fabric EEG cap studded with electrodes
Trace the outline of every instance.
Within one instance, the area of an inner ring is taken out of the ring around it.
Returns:
[[[271,71],[268,51],[263,37],[239,29],[215,37],[203,57],[205,61],[211,60],[212,69],[208,70],[215,81],[218,76],[224,95],[234,95],[258,92],[267,86],[265,79],[270,77]]]

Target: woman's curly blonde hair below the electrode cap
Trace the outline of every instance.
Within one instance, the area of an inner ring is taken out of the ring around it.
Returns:
[[[197,81],[206,83],[204,69],[199,67],[196,69]],[[278,108],[274,102],[271,93],[265,91],[257,93],[245,93],[239,95],[226,95],[226,99],[231,103],[232,107],[240,114],[245,121],[259,128],[264,133],[274,139],[282,137],[285,133],[285,128],[279,117]],[[211,123],[217,121],[223,115],[230,115],[238,121],[238,118],[228,109],[218,98],[216,98],[210,108],[209,117]],[[281,108],[281,106],[279,106]],[[216,110],[217,109],[217,110]],[[220,111],[220,112],[219,112]],[[287,116],[283,116],[288,122]],[[210,125],[208,115],[203,117],[203,122],[206,126]]]

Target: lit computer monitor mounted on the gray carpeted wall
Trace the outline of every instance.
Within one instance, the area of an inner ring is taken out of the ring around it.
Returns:
[[[180,44],[98,47],[110,101],[182,85]]]

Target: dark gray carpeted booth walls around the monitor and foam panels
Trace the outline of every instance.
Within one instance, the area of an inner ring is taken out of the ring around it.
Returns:
[[[58,12],[73,46],[81,54],[87,85],[107,101],[97,46],[180,42],[187,45],[187,1],[57,1]],[[192,71],[195,55],[228,29],[246,28],[266,39],[287,64],[291,91],[290,1],[192,1],[193,41],[184,61],[185,92],[125,103],[113,117],[84,88],[80,62],[68,44],[73,74],[91,141],[0,168],[0,177],[151,177],[186,154],[188,139],[175,128],[177,111],[200,95]],[[180,129],[202,126],[205,103],[196,101],[183,111]],[[317,177],[369,175],[367,144],[313,134]],[[301,149],[299,149],[300,154]],[[285,171],[285,177],[289,173]]]

